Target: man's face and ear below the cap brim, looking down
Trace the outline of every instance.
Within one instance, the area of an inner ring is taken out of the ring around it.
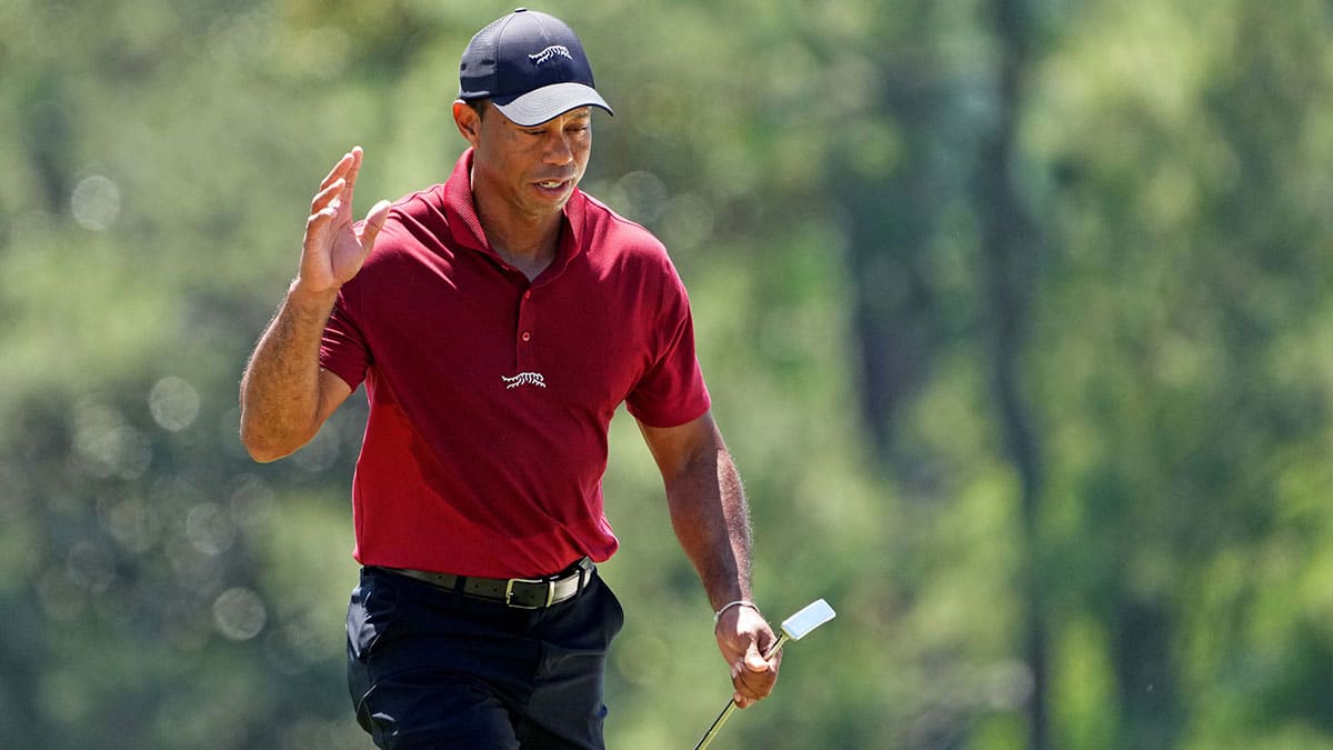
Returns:
[[[523,127],[488,101],[485,116],[472,128],[460,123],[460,129],[475,148],[472,190],[479,194],[479,204],[507,206],[516,219],[559,214],[583,179],[592,152],[589,107]]]

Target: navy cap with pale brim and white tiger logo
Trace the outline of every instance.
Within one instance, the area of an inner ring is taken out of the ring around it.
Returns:
[[[583,43],[564,21],[519,8],[477,32],[459,64],[459,99],[491,99],[532,127],[579,107],[615,115],[593,88]]]

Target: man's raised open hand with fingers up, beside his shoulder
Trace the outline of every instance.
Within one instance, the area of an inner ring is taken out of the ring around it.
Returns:
[[[361,147],[345,153],[311,202],[301,244],[301,270],[295,288],[309,294],[335,292],[361,270],[375,238],[389,216],[389,202],[381,200],[365,215],[360,231],[352,218],[352,194],[361,171]]]

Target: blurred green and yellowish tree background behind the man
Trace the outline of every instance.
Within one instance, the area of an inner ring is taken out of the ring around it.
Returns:
[[[243,363],[309,199],[441,181],[444,0],[0,0],[0,746],[368,747],[353,396]],[[1333,747],[1333,4],[552,0],[666,242],[794,645],[714,747]],[[632,419],[612,747],[729,697]]]

